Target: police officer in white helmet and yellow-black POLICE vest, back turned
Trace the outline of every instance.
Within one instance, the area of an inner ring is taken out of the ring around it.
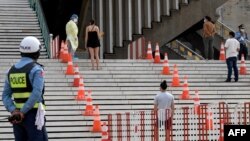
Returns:
[[[41,43],[32,36],[20,43],[21,59],[7,74],[2,94],[3,104],[11,113],[15,141],[47,141],[45,126],[35,125],[39,103],[44,105],[44,70],[37,63]],[[14,100],[12,100],[12,98]]]

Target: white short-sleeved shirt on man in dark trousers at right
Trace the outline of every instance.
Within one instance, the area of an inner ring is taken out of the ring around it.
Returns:
[[[240,42],[235,38],[229,38],[225,43],[225,48],[226,48],[226,58],[237,57],[238,55],[237,49],[240,49]]]

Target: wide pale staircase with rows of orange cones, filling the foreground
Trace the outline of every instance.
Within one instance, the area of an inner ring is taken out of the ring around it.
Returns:
[[[15,63],[15,59],[2,59],[0,62],[0,96],[6,70]],[[72,87],[73,76],[65,76],[66,64],[57,60],[39,60],[46,70],[47,130],[52,141],[96,141],[101,134],[89,132],[91,117],[82,116],[85,102],[76,102],[77,88]],[[102,69],[90,70],[89,60],[78,60],[80,74],[84,77],[85,90],[92,90],[93,104],[100,105],[101,119],[107,120],[107,114],[153,108],[153,99],[159,91],[160,82],[168,84],[172,76],[160,75],[162,64],[153,64],[147,60],[101,60]],[[250,70],[250,62],[246,62]],[[250,76],[240,76],[239,82],[225,83],[226,64],[221,61],[183,61],[170,60],[171,71],[177,64],[180,79],[188,75],[190,94],[199,90],[201,103],[226,101],[235,104],[249,101]],[[182,87],[169,87],[175,96],[176,107],[192,106],[193,100],[180,100]],[[9,115],[2,101],[0,119]],[[11,124],[0,120],[0,140],[13,140]]]

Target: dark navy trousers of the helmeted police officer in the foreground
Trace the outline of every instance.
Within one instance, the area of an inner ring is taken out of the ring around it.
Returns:
[[[37,130],[35,125],[36,111],[30,110],[24,116],[24,120],[19,124],[13,124],[15,141],[48,141],[45,126],[42,130]]]

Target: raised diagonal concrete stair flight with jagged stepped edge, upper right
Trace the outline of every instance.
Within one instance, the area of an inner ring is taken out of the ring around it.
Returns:
[[[180,10],[172,10],[170,17],[162,16],[160,23],[153,22],[153,28],[144,29],[143,35],[146,39],[157,41],[160,46],[162,46],[202,20],[205,15],[209,15],[215,19],[216,9],[226,1],[227,0],[190,0],[188,6],[180,2]],[[192,19],[190,19],[191,15]],[[164,38],[159,39],[159,37]]]

